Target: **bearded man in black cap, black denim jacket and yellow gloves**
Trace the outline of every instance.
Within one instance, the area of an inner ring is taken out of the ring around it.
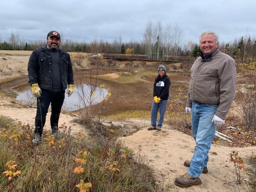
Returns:
[[[28,77],[36,99],[35,139],[41,141],[48,108],[51,104],[50,117],[52,135],[56,136],[61,107],[65,98],[65,89],[71,96],[74,92],[74,77],[70,55],[59,48],[60,34],[51,31],[47,35],[47,44],[35,49],[28,62]]]

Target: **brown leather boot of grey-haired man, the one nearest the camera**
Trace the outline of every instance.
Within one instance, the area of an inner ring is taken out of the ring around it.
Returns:
[[[190,187],[193,185],[200,185],[201,179],[199,177],[192,177],[188,173],[185,173],[185,175],[178,177],[174,181],[175,185],[179,187]]]

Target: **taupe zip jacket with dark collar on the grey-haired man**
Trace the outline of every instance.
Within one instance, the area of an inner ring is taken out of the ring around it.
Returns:
[[[186,107],[192,108],[192,100],[205,104],[219,104],[215,115],[225,119],[236,92],[234,59],[216,49],[211,53],[210,61],[203,61],[201,56],[198,57],[190,73]]]

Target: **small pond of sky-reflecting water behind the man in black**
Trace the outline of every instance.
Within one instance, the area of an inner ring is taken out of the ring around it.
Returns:
[[[68,97],[66,91],[64,103],[62,106],[62,109],[65,111],[75,111],[77,109],[88,106],[90,102],[94,105],[99,103],[108,95],[108,92],[105,88],[94,87],[84,83],[75,83],[74,93],[70,97]],[[32,96],[31,86],[29,84],[16,87],[14,92],[18,94],[16,100],[20,100],[22,103],[29,105],[36,103],[36,98]],[[91,93],[92,99],[90,101]]]

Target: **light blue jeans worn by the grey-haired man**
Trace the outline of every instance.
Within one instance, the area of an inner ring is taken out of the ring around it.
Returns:
[[[212,123],[218,104],[197,104],[192,102],[192,134],[196,141],[194,155],[188,173],[192,177],[200,177],[203,167],[207,167],[208,152],[215,136],[217,125]]]

